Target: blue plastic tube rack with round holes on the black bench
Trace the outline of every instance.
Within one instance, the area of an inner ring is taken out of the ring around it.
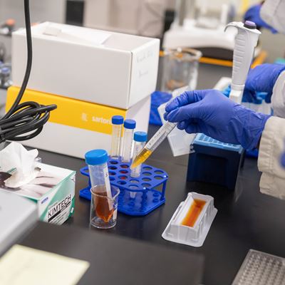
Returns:
[[[130,216],[144,216],[165,203],[168,175],[164,170],[142,164],[140,177],[130,177],[130,163],[111,158],[108,160],[108,169],[110,184],[120,189],[119,212]],[[88,177],[88,187],[80,190],[79,196],[90,200],[88,166],[81,168],[81,174]],[[135,193],[134,197],[131,197],[132,192]]]

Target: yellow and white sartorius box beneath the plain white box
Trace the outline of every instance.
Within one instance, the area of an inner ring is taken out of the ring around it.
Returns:
[[[11,87],[7,93],[6,110],[14,103],[19,88]],[[136,130],[147,132],[150,118],[150,96],[128,110],[88,103],[58,95],[26,90],[24,101],[35,101],[43,105],[56,104],[43,131],[23,145],[64,155],[84,158],[88,150],[103,148],[110,151],[113,115],[137,122]]]

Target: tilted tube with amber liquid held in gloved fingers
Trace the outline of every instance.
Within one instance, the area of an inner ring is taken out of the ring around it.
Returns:
[[[160,143],[165,140],[167,135],[176,127],[177,123],[166,122],[162,127],[157,130],[155,135],[147,142],[145,147],[142,148],[140,153],[134,158],[132,165],[130,165],[130,169],[132,170],[138,165],[141,165],[148,157],[152,154],[152,152],[160,145]]]

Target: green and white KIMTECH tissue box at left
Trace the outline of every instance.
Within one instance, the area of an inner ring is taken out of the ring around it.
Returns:
[[[41,221],[63,224],[74,213],[76,172],[43,163],[37,167],[41,171],[28,184],[0,190],[30,199],[36,204]]]

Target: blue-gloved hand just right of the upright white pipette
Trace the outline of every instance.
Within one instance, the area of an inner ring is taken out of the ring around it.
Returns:
[[[285,71],[285,65],[278,63],[264,63],[251,69],[244,86],[243,100],[253,102],[257,92],[266,92],[265,101],[270,103],[274,84],[282,71]]]

